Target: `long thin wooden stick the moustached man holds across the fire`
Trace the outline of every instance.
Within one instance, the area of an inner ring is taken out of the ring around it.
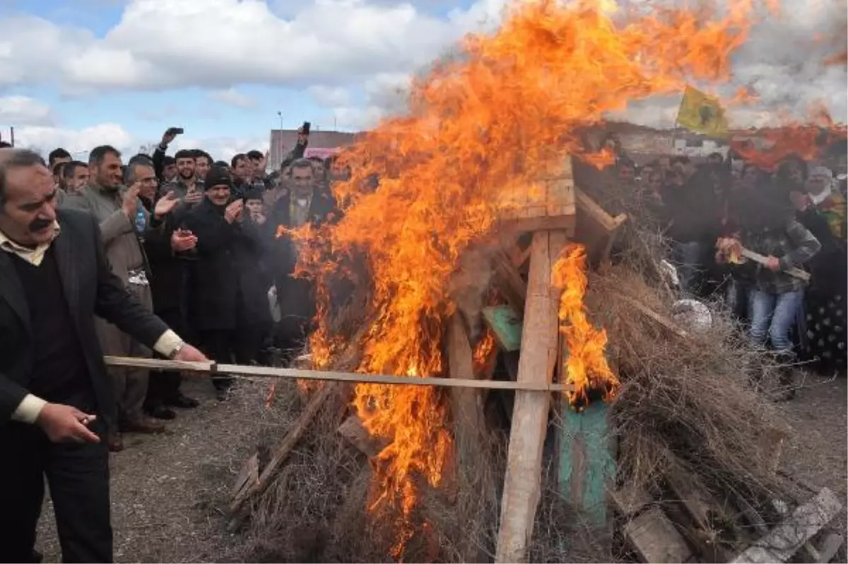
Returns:
[[[419,378],[390,376],[388,374],[360,374],[359,372],[331,372],[298,370],[293,368],[271,368],[268,366],[243,366],[217,364],[215,362],[184,362],[181,360],[142,359],[131,356],[105,356],[109,366],[147,368],[157,371],[183,371],[204,374],[276,378],[283,380],[319,380],[324,382],[348,382],[389,384],[395,386],[439,386],[442,388],[480,388],[519,390],[522,392],[572,392],[571,384],[549,382],[505,382],[501,380],[470,380],[454,378]]]

